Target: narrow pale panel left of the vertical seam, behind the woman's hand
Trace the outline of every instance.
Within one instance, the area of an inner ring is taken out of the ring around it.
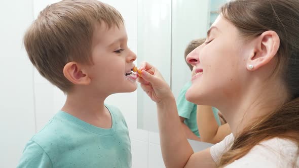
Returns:
[[[138,1],[137,55],[155,65],[170,84],[171,0]],[[158,131],[156,104],[137,89],[138,128]]]

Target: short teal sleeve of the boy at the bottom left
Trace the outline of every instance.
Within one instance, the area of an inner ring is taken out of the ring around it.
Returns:
[[[43,148],[35,143],[29,141],[23,151],[23,155],[17,168],[21,167],[53,167],[52,161]]]

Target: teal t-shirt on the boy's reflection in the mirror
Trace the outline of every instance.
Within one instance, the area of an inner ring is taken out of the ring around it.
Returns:
[[[191,103],[189,101],[186,100],[185,94],[187,92],[187,90],[191,87],[192,82],[188,81],[183,88],[181,89],[176,104],[177,104],[177,111],[178,111],[178,115],[181,117],[184,117],[184,123],[190,128],[190,130],[197,135],[198,137],[200,137],[200,133],[198,131],[198,126],[197,126],[197,122],[196,122],[196,110],[197,110],[197,105],[194,103]],[[213,114],[214,117],[218,123],[218,125],[220,125],[220,119],[218,116],[218,109],[212,107],[213,110]]]

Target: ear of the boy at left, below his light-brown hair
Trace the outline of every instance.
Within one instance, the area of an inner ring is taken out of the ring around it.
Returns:
[[[90,77],[77,62],[72,61],[64,65],[63,74],[74,85],[89,85],[91,81]]]

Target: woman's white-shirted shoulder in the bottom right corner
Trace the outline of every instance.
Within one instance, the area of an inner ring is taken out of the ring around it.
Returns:
[[[273,138],[254,146],[245,156],[226,167],[292,167],[299,166],[298,146],[295,142]]]

